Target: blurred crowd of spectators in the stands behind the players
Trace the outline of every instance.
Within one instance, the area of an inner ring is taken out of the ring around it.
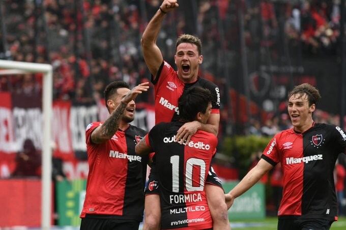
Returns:
[[[124,79],[134,86],[150,80],[141,55],[140,38],[161,1],[5,0],[2,3],[9,58],[51,63],[55,99],[94,102],[102,97],[102,90],[110,81]],[[293,51],[290,46],[302,46],[306,53],[336,52],[338,1],[246,0],[242,3],[182,1],[179,11],[167,15],[157,41],[163,56],[168,58],[166,61],[174,65],[177,35],[196,34],[203,42],[205,56],[200,75],[216,82],[225,94],[225,73],[220,63],[226,57],[221,51],[233,49],[235,43],[230,41],[237,40],[239,31],[234,31],[235,25],[232,27],[227,22],[229,18],[238,18],[239,11],[244,12],[245,44],[250,51],[271,50],[273,57],[280,56],[282,47]],[[280,31],[284,31],[284,37]],[[227,56],[230,65],[237,63],[233,61],[235,57],[232,52]],[[0,76],[0,91],[37,93],[41,91],[41,81],[39,74]],[[153,91],[138,100],[153,103],[152,95]],[[281,121],[284,121],[281,117],[262,120],[265,125],[258,130],[255,122],[251,125],[253,131],[249,128],[247,132],[272,135],[276,130],[272,126],[280,126]]]

